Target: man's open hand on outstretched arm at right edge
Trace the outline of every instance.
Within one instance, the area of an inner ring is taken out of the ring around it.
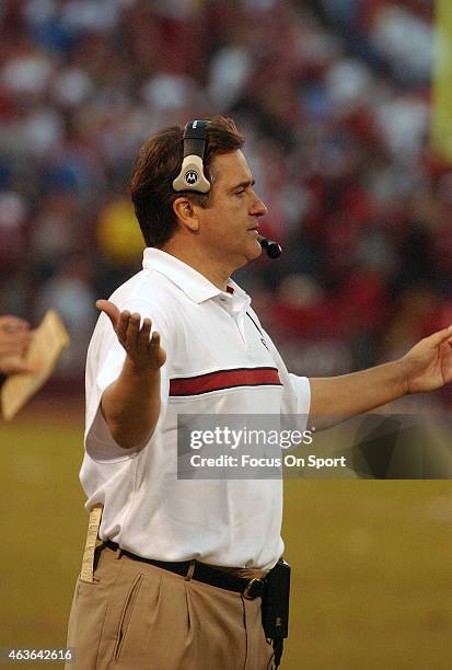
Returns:
[[[402,358],[405,393],[434,391],[452,381],[452,326],[417,343]]]

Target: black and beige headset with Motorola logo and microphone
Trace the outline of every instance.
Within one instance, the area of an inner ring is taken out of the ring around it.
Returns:
[[[184,160],[182,161],[181,172],[173,181],[173,188],[176,192],[193,190],[194,193],[206,194],[210,190],[210,182],[204,173],[204,157],[209,139],[208,125],[208,120],[193,120],[185,126],[183,136]],[[277,242],[259,234],[257,240],[269,258],[279,258],[282,249]]]

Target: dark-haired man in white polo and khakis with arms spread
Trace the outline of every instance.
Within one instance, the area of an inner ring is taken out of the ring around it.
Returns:
[[[281,482],[177,480],[177,415],[351,416],[452,378],[452,328],[371,370],[289,374],[230,279],[262,253],[267,211],[243,137],[223,117],[206,132],[204,195],[175,190],[181,128],[142,147],[131,197],[143,270],[97,302],[81,481],[88,509],[103,507],[103,545],[72,603],[76,668],[271,668],[251,580],[265,584],[283,551]]]

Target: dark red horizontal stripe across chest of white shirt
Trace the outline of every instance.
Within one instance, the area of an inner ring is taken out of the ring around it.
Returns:
[[[170,395],[199,395],[235,386],[281,386],[276,368],[217,370],[198,377],[170,380]]]

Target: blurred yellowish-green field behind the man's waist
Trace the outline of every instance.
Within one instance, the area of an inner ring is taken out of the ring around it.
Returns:
[[[86,525],[81,408],[32,404],[0,446],[0,646],[62,647]],[[449,482],[289,481],[285,540],[282,670],[451,667]]]

